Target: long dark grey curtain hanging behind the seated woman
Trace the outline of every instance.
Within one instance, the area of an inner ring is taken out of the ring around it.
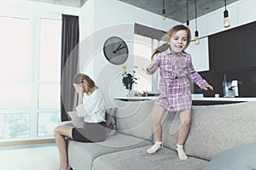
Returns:
[[[79,17],[62,14],[61,37],[61,122],[68,121],[67,111],[77,105],[73,77],[79,71]]]

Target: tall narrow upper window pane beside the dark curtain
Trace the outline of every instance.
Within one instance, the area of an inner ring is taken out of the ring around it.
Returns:
[[[61,20],[41,20],[40,81],[61,81]]]

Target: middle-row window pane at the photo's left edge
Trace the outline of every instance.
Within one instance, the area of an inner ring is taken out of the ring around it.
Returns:
[[[31,85],[0,84],[1,110],[23,110],[31,108]]]

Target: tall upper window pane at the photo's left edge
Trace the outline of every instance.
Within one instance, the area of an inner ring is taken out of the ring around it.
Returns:
[[[30,20],[0,17],[0,37],[0,82],[29,80]]]

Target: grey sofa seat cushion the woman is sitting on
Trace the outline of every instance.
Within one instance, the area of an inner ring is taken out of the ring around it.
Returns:
[[[99,143],[82,143],[68,140],[68,161],[75,170],[90,170],[92,161],[98,156],[149,144],[152,143],[148,140],[123,133],[109,136],[105,141]]]

